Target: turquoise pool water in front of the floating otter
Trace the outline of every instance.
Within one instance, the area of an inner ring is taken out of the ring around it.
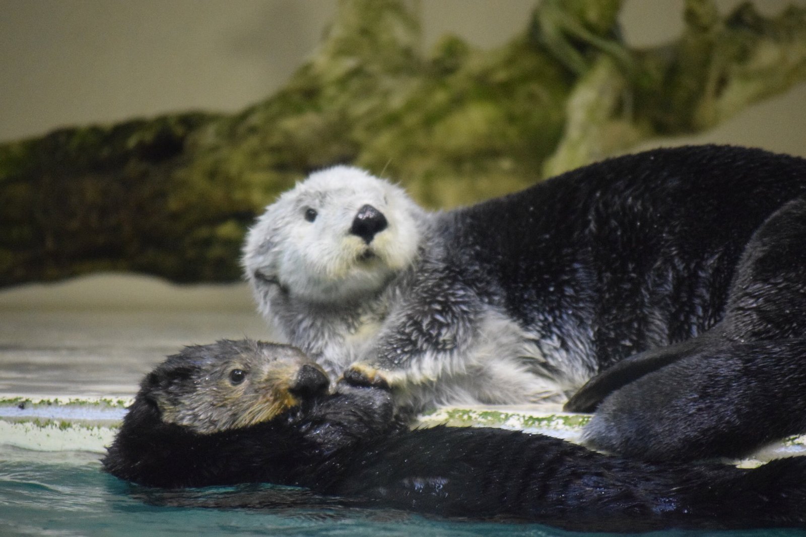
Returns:
[[[272,497],[267,509],[214,507]],[[299,502],[305,502],[305,506]],[[284,535],[459,537],[584,535],[537,524],[463,522],[393,510],[337,506],[297,489],[268,486],[164,493],[131,487],[101,472],[97,453],[0,451],[0,535]],[[602,535],[602,534],[596,534]],[[806,535],[804,531],[652,535]]]

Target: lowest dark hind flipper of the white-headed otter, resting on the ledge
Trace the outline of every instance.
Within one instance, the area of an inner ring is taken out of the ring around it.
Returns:
[[[806,339],[726,343],[605,399],[593,448],[647,460],[738,457],[806,432]]]

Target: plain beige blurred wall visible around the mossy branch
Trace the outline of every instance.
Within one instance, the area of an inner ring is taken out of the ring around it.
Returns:
[[[460,35],[502,44],[536,0],[420,0],[423,46]],[[716,2],[725,12],[737,0]],[[754,0],[765,15],[806,0]],[[234,112],[272,94],[318,44],[335,0],[0,0],[0,142],[58,127],[179,110]],[[627,0],[625,38],[663,44],[683,27],[683,0]],[[729,143],[806,156],[806,84],[713,131],[642,148]],[[212,294],[210,294],[212,293]],[[89,277],[0,292],[0,306],[125,303],[250,307],[243,285],[168,289],[151,278]],[[187,302],[189,301],[189,302]]]

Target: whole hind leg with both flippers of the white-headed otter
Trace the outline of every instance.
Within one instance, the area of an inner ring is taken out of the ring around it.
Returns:
[[[604,399],[586,431],[593,446],[650,459],[737,456],[806,431],[806,201],[750,239],[721,323],[605,371],[573,399]]]

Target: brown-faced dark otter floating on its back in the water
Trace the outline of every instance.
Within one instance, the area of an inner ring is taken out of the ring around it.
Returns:
[[[141,485],[270,482],[588,531],[806,522],[806,458],[755,469],[648,463],[518,431],[409,431],[386,390],[327,389],[321,368],[286,345],[185,348],[143,379],[104,469]]]

